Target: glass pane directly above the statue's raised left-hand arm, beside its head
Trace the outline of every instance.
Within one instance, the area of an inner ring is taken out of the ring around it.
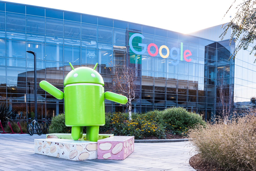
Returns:
[[[56,87],[63,87],[63,71],[46,70],[46,81]]]

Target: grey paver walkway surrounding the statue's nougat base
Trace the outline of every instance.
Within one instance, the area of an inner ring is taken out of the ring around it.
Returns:
[[[192,171],[188,142],[135,143],[125,160],[70,161],[34,153],[34,139],[45,135],[0,134],[0,170]],[[193,154],[194,155],[194,154]]]

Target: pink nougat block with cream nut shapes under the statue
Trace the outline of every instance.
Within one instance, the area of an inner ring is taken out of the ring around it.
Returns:
[[[134,136],[112,136],[98,140],[98,159],[124,160],[134,151]]]

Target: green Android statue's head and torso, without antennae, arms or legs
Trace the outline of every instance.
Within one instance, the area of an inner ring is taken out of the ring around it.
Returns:
[[[70,71],[64,80],[65,123],[67,126],[102,126],[105,124],[103,79],[90,68],[79,69]]]

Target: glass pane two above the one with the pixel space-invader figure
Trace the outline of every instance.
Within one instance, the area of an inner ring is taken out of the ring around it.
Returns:
[[[82,39],[97,40],[97,26],[82,23]]]

